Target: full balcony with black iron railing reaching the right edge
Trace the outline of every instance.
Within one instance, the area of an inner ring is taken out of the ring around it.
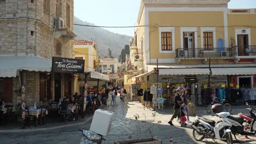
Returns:
[[[256,46],[234,46],[213,49],[176,49],[176,59],[229,59],[229,58],[256,58]]]

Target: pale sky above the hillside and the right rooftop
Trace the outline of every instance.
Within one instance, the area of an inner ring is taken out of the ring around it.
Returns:
[[[141,0],[74,0],[74,16],[97,26],[136,26],[140,4]],[[231,0],[228,8],[256,8],[256,0]],[[133,37],[135,28],[105,29]]]

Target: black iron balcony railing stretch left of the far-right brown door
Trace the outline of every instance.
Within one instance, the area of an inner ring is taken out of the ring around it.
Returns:
[[[237,47],[222,47],[212,49],[202,48],[179,48],[176,49],[176,58],[191,59],[191,58],[227,58],[234,57],[237,54]]]

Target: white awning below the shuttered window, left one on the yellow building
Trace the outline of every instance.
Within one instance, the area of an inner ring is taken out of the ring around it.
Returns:
[[[208,75],[208,68],[159,69],[159,75]]]

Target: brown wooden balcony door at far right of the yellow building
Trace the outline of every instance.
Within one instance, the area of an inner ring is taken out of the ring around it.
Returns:
[[[246,56],[246,46],[248,46],[248,34],[237,35],[238,56]]]

